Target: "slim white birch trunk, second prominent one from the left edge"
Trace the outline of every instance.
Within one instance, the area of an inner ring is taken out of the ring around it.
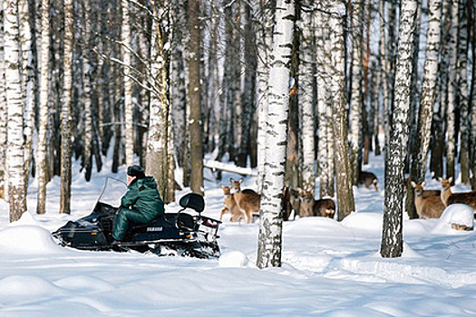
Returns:
[[[48,168],[46,162],[46,136],[49,120],[48,84],[50,61],[50,0],[42,1],[41,65],[40,65],[40,110],[38,111],[38,151],[36,153],[36,177],[38,196],[36,213],[46,212],[46,183]]]

